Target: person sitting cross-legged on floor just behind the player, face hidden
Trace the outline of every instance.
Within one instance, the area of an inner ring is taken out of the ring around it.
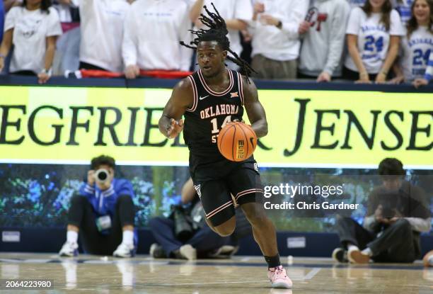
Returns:
[[[151,245],[151,256],[195,260],[197,256],[229,257],[234,254],[235,247],[226,245],[230,242],[229,237],[220,237],[206,225],[192,179],[183,185],[182,203],[191,203],[191,208],[177,206],[173,208],[171,217],[154,217],[149,221],[150,230],[158,242]]]

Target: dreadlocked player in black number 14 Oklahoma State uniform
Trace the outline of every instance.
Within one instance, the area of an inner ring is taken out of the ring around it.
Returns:
[[[248,79],[253,69],[229,48],[226,23],[217,9],[216,13],[206,6],[204,9],[209,17],[202,15],[200,20],[209,29],[193,32],[197,38],[191,45],[197,47],[182,43],[197,50],[200,69],[175,86],[159,120],[159,130],[168,138],[184,130],[190,149],[190,173],[209,227],[221,236],[233,233],[236,221],[232,193],[253,227],[254,239],[268,264],[272,287],[291,288],[291,280],[279,261],[275,227],[262,205],[256,203],[263,193],[257,163],[253,157],[231,162],[217,148],[219,130],[233,120],[242,120],[244,107],[257,137],[267,134],[267,121],[257,89]],[[238,64],[246,77],[227,69],[226,59]]]

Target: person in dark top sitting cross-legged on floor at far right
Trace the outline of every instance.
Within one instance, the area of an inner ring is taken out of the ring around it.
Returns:
[[[337,220],[343,248],[333,251],[333,259],[366,264],[420,258],[420,232],[431,227],[425,192],[405,181],[398,159],[383,159],[379,175],[383,184],[371,191],[364,227],[350,217]]]

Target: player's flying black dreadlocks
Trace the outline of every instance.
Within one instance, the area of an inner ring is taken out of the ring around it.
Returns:
[[[241,73],[246,75],[246,80],[249,83],[250,74],[255,72],[255,70],[253,67],[250,67],[248,62],[243,60],[236,54],[236,52],[230,49],[230,41],[229,38],[226,37],[226,35],[229,33],[226,27],[226,22],[224,21],[224,18],[219,15],[219,12],[213,3],[212,7],[214,7],[214,11],[216,13],[209,11],[206,6],[203,6],[208,16],[200,14],[199,18],[204,26],[207,26],[208,29],[205,30],[200,28],[199,30],[190,30],[192,35],[195,35],[196,37],[190,42],[190,45],[185,44],[183,41],[180,42],[180,45],[197,50],[197,46],[202,41],[217,41],[217,43],[222,47],[222,50],[229,51],[231,55],[233,55],[233,57],[227,55],[226,58],[241,67]],[[195,47],[192,45],[195,45]]]

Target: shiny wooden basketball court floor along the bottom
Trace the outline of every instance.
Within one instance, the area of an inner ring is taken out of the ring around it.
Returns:
[[[433,293],[433,268],[423,268],[420,261],[355,266],[294,257],[293,264],[284,266],[294,281],[292,290],[271,289],[265,262],[258,256],[188,262],[149,256],[114,259],[82,254],[69,259],[56,254],[0,254],[3,281],[52,280],[54,290],[47,293]]]

